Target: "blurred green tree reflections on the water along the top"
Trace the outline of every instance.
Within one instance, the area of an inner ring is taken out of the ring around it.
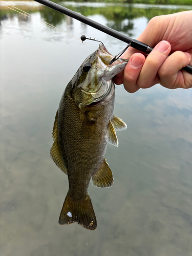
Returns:
[[[54,0],[54,2],[58,2],[60,5],[65,6],[65,2],[59,2],[58,0]],[[86,6],[86,3],[82,6],[70,6],[67,5],[72,11],[78,12],[84,16],[93,16],[93,15],[101,15],[106,19],[106,26],[123,32],[129,36],[132,36],[133,31],[133,19],[139,17],[146,17],[150,20],[154,16],[165,15],[174,12],[183,11],[184,9],[160,9],[154,7],[145,7],[145,8],[136,8],[135,5],[123,5],[119,4],[117,6],[114,5],[104,5],[102,7],[94,7],[94,6]],[[40,16],[47,23],[57,27],[63,21],[66,21],[68,25],[73,25],[73,21],[71,18],[67,18],[67,15],[62,14],[58,11],[55,11],[46,6],[40,7],[27,7],[22,6],[20,9],[27,11],[32,14],[34,12],[40,12]],[[7,8],[0,8],[0,20],[6,19],[10,15],[17,15],[13,10]],[[22,18],[19,16],[19,20],[23,22],[28,22],[28,18]]]

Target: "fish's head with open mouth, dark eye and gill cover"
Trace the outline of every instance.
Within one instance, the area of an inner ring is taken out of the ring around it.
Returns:
[[[127,61],[117,59],[111,65],[114,56],[103,44],[89,55],[72,78],[73,98],[79,109],[100,102],[110,94],[114,86],[112,78],[121,72]]]

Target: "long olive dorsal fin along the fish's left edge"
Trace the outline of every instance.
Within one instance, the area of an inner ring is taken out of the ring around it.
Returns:
[[[53,159],[53,161],[56,163],[56,165],[64,172],[67,174],[67,169],[65,164],[62,161],[61,158],[61,153],[60,153],[60,148],[59,148],[59,142],[58,142],[58,138],[57,138],[57,120],[58,120],[58,110],[55,116],[55,122],[53,125],[53,140],[54,143],[52,145],[52,148],[50,150],[50,156]]]

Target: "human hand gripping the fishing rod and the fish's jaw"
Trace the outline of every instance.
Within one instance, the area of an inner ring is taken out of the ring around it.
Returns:
[[[146,59],[129,48],[122,57],[130,60],[124,72],[115,76],[115,83],[123,82],[130,93],[156,83],[169,89],[191,88],[192,75],[181,70],[192,64],[191,24],[192,11],[152,18],[137,39],[155,48]],[[168,56],[169,53],[172,54]]]

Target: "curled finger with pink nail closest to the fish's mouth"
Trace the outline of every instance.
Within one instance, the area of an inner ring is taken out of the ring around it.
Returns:
[[[141,53],[135,53],[130,57],[124,69],[123,84],[124,88],[129,93],[134,93],[140,89],[137,85],[137,79],[143,67],[145,57]]]

